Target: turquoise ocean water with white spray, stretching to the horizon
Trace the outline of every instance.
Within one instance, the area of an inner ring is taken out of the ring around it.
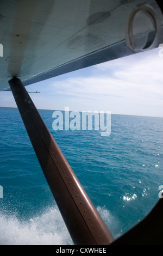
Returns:
[[[54,131],[54,111],[39,112],[115,239],[151,211],[163,185],[163,118],[111,114],[102,137]],[[0,121],[0,245],[73,245],[18,109],[1,107]]]

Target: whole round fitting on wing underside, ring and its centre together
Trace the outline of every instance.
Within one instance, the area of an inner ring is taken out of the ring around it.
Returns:
[[[160,24],[149,4],[140,4],[130,14],[126,27],[127,46],[134,52],[147,51],[157,44]]]

